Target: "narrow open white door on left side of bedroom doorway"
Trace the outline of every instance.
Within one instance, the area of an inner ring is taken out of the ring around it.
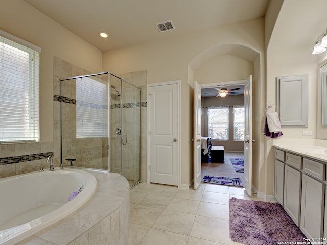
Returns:
[[[201,183],[201,86],[194,81],[194,189]]]

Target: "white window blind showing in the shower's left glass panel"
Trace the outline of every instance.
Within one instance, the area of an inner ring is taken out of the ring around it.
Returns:
[[[107,137],[108,87],[91,77],[76,79],[77,138]]]

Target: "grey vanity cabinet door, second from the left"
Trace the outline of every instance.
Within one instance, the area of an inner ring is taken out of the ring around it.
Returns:
[[[301,198],[302,173],[285,165],[284,171],[284,209],[300,226],[300,198]]]

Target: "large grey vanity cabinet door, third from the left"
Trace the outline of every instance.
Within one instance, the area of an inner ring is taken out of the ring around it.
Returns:
[[[325,185],[307,175],[302,176],[300,228],[308,238],[321,238]]]

